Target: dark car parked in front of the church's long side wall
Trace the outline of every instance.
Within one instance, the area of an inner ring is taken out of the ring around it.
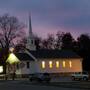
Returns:
[[[51,78],[49,73],[35,73],[33,75],[29,76],[29,80],[32,81],[37,81],[37,82],[50,82]]]

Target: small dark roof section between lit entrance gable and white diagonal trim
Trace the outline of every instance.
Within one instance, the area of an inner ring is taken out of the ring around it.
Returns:
[[[34,61],[34,59],[30,57],[27,53],[15,53],[15,55],[20,61]]]

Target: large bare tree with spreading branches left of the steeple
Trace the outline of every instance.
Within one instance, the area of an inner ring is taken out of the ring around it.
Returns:
[[[14,44],[14,41],[23,35],[24,24],[14,16],[5,14],[0,16],[0,46],[1,46],[1,59],[6,61],[9,48]]]

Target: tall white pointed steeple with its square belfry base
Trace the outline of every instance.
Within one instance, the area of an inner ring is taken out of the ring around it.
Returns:
[[[29,36],[27,38],[27,45],[26,48],[28,48],[29,50],[36,50],[36,46],[35,46],[35,38],[32,32],[32,25],[31,25],[31,14],[29,14],[29,21],[28,21],[28,29],[29,29]]]

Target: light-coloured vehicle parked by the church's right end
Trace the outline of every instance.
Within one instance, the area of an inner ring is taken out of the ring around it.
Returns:
[[[72,80],[89,80],[88,72],[75,72],[71,75]]]

